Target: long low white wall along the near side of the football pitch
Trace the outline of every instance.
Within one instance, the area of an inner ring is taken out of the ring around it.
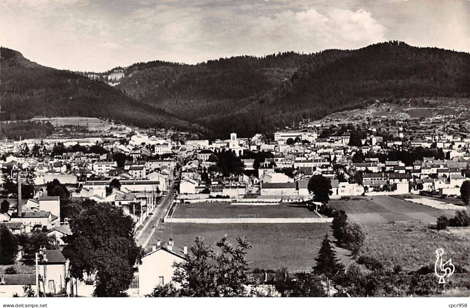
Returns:
[[[333,218],[168,218],[176,223],[325,223]]]

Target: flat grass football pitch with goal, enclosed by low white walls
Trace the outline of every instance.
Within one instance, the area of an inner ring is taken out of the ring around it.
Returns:
[[[179,204],[172,218],[238,218],[238,215],[256,215],[256,218],[318,217],[305,205],[230,205],[223,202]],[[254,217],[253,217],[254,218]]]

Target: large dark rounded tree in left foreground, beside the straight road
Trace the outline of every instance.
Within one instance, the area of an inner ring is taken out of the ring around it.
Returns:
[[[63,255],[70,260],[72,276],[83,281],[85,273],[95,274],[94,296],[125,296],[143,254],[134,240],[134,225],[122,208],[94,201],[71,221]]]

